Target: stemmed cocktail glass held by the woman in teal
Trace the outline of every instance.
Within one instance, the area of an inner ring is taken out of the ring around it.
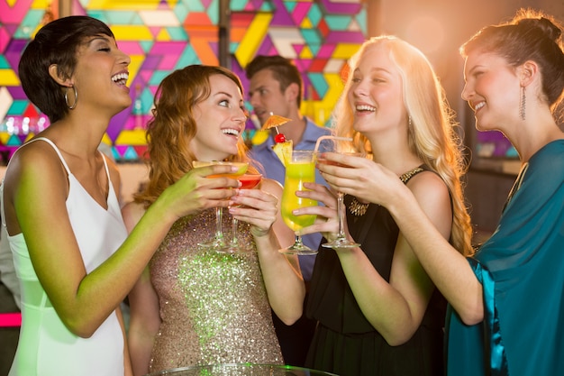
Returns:
[[[343,139],[343,138],[332,137],[332,136],[328,136],[326,138],[332,139],[333,152],[338,152],[342,155],[350,155],[357,157],[364,156],[364,154],[361,152],[350,151],[353,149],[352,144],[350,143],[350,139]],[[323,154],[320,154],[318,156],[318,161],[320,163],[332,164],[343,168],[350,167],[342,163],[336,163],[329,160],[325,160],[323,158]],[[344,220],[346,218],[346,215],[345,215],[345,206],[343,204],[343,198],[344,198],[344,194],[341,191],[337,191],[337,217],[339,218],[339,233],[337,234],[337,237],[332,242],[322,244],[322,246],[325,248],[337,249],[337,248],[354,248],[360,246],[359,243],[355,243],[347,239],[347,235],[345,234]]]

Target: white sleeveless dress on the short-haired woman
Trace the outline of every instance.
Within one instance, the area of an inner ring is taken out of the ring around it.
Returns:
[[[91,272],[110,257],[127,236],[105,159],[109,182],[107,210],[80,185],[57,146],[46,138],[38,138],[33,142],[37,140],[50,143],[67,170],[68,216],[86,272]],[[5,226],[3,191],[3,186],[0,186],[2,225]],[[115,312],[105,319],[90,338],[72,334],[59,319],[49,297],[41,288],[23,234],[8,236],[8,240],[22,289],[22,328],[9,376],[123,375],[123,333]]]

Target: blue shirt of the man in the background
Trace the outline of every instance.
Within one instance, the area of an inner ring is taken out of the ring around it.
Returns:
[[[306,120],[307,123],[305,124],[305,131],[302,135],[302,140],[294,145],[294,150],[314,150],[315,142],[317,142],[319,137],[331,134],[331,129],[318,126],[310,119],[306,118]],[[277,180],[277,182],[284,185],[286,168],[278,159],[276,153],[272,150],[273,145],[274,139],[272,136],[269,136],[266,142],[262,142],[252,148],[250,151],[250,157],[260,163],[262,168],[260,168],[260,166],[257,167],[259,170],[262,170],[264,176],[268,179]],[[317,169],[315,169],[315,182],[325,186],[327,185],[325,179],[322,178],[319,170]],[[306,234],[302,236],[304,244],[315,250],[319,247],[321,239],[322,235],[320,233]],[[300,255],[298,257],[304,280],[309,281],[312,278],[312,271],[314,271],[315,256]]]

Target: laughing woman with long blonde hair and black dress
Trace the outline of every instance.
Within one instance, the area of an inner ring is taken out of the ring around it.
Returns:
[[[463,173],[450,108],[429,61],[393,36],[366,41],[350,60],[337,135],[351,137],[369,159],[326,153],[350,168],[319,164],[332,188],[347,195],[347,236],[360,247],[320,250],[306,314],[318,321],[306,365],[342,375],[439,375],[446,302],[387,209],[365,189],[378,184],[377,163],[413,192],[432,226],[459,250],[470,252]],[[335,199],[321,186],[299,195],[325,206],[318,222],[331,241],[337,233]]]

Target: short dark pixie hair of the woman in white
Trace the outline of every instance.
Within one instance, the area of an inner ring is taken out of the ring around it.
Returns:
[[[77,66],[77,50],[87,37],[114,33],[103,22],[86,15],[71,15],[47,23],[23,50],[18,65],[23,92],[54,123],[68,114],[64,91],[50,77],[49,67],[57,64],[64,78]]]

